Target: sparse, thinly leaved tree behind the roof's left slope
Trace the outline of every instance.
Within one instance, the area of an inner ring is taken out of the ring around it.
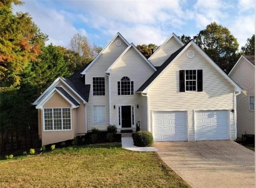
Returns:
[[[70,40],[70,49],[77,52],[82,57],[83,64],[85,65],[100,53],[102,47],[95,44],[91,45],[86,36],[75,34]]]

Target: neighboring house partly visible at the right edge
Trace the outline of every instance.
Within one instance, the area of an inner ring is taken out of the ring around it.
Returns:
[[[254,121],[254,83],[255,83],[255,56],[242,55],[228,74],[238,83],[244,92],[237,96],[237,137],[244,134],[253,134]]]

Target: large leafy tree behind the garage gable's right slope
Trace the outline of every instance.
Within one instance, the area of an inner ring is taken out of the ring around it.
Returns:
[[[238,60],[238,42],[228,28],[213,22],[194,36],[194,41],[226,73]]]

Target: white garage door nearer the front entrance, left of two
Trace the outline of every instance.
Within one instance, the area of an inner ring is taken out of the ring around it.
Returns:
[[[154,112],[153,116],[154,141],[187,140],[186,112]]]

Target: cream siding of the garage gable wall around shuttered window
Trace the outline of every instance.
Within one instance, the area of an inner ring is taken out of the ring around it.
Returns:
[[[186,57],[193,50],[192,59]],[[202,69],[203,91],[180,92],[179,70]],[[148,90],[149,127],[152,131],[152,111],[188,111],[189,140],[194,140],[194,110],[223,110],[234,108],[234,88],[202,55],[190,46]],[[234,113],[230,113],[232,140],[234,133]]]

